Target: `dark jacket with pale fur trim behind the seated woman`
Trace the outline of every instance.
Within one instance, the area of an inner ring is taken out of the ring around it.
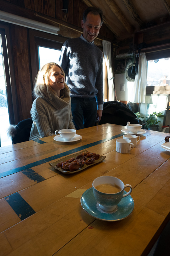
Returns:
[[[7,132],[12,139],[12,144],[29,140],[32,127],[32,118],[20,121],[17,125],[10,125]]]

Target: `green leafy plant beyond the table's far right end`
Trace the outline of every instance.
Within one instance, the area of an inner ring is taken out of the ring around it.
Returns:
[[[148,130],[159,131],[158,123],[161,123],[161,121],[158,120],[158,118],[161,117],[164,117],[163,112],[153,112],[143,120],[143,124],[145,125],[144,128]]]

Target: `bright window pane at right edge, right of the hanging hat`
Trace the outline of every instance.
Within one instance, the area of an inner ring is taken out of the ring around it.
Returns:
[[[149,60],[147,86],[170,85],[170,58]]]

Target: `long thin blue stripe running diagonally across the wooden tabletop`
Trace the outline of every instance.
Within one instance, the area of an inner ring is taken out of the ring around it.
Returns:
[[[17,173],[17,172],[21,172],[23,170],[35,167],[37,165],[41,165],[42,163],[50,162],[50,161],[55,160],[55,159],[60,158],[60,157],[65,157],[66,155],[73,154],[77,151],[84,150],[85,148],[93,147],[93,146],[96,146],[96,145],[101,144],[103,142],[119,138],[123,135],[124,135],[124,133],[120,133],[118,135],[114,135],[112,137],[109,137],[109,138],[106,138],[106,139],[103,139],[103,140],[98,140],[96,142],[92,142],[92,143],[89,143],[87,145],[84,145],[84,146],[81,146],[81,147],[78,147],[78,148],[74,148],[72,150],[68,150],[68,151],[60,153],[58,155],[53,155],[52,157],[47,157],[47,158],[44,158],[42,160],[39,160],[39,161],[36,161],[36,162],[33,162],[33,163],[29,163],[28,165],[21,166],[21,167],[6,171],[4,173],[0,173],[0,178],[6,177],[8,175],[11,175],[11,174],[14,174],[14,173]]]

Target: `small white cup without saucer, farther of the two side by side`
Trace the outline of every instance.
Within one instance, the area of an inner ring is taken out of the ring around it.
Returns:
[[[132,148],[131,148],[132,146]],[[116,140],[116,151],[118,153],[129,153],[134,148],[134,144],[131,143],[130,139],[117,139]]]

